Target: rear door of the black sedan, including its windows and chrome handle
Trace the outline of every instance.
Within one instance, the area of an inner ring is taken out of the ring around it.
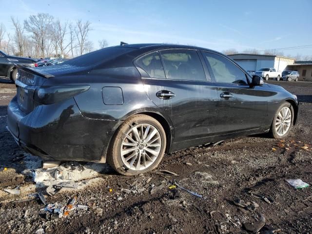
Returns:
[[[147,95],[172,120],[174,142],[215,133],[218,97],[202,62],[191,49],[161,50],[137,59]]]

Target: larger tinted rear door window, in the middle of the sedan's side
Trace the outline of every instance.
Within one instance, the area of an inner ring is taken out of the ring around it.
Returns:
[[[168,79],[207,80],[195,50],[160,51]]]

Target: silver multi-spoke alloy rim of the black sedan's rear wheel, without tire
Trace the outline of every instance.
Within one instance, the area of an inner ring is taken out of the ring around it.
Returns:
[[[131,170],[141,171],[151,166],[159,156],[161,137],[151,124],[133,126],[121,143],[121,159]]]

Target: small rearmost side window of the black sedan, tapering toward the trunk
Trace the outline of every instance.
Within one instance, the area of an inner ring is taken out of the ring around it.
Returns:
[[[157,52],[153,52],[137,59],[136,63],[151,78],[166,78],[159,54]]]

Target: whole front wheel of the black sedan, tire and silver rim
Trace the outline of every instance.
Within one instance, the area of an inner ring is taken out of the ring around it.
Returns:
[[[275,139],[287,137],[292,129],[293,108],[291,103],[284,102],[276,111],[270,133]]]

